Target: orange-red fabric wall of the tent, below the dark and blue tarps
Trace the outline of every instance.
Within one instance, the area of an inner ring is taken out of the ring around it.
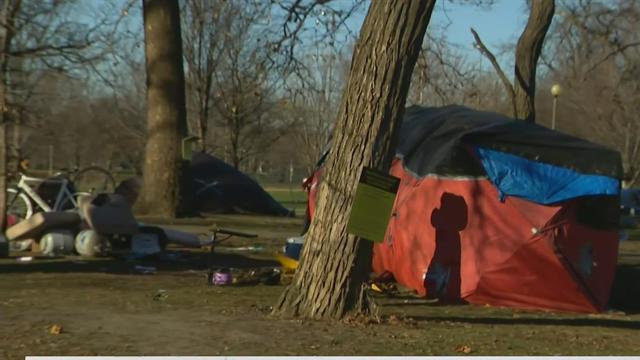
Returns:
[[[501,202],[486,179],[417,180],[400,161],[391,173],[401,186],[386,239],[374,248],[377,273],[389,271],[419,294],[447,301],[577,312],[606,304],[615,232],[576,223],[561,211],[566,206]],[[586,267],[589,276],[581,278],[576,264],[584,268],[589,256],[597,266]],[[449,277],[445,288],[442,274]]]

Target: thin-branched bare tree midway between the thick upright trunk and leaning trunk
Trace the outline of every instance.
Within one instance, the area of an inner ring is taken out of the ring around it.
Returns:
[[[281,64],[273,61],[272,49],[265,46],[269,38],[263,32],[262,19],[270,12],[270,4],[262,2],[237,4],[229,12],[233,22],[223,35],[215,71],[216,123],[224,131],[225,157],[228,155],[236,168],[263,152],[287,124],[287,118],[276,111],[286,74]]]

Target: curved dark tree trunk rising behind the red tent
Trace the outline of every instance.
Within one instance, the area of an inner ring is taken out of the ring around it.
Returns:
[[[536,65],[555,12],[554,0],[532,0],[531,13],[516,47],[516,118],[535,122]]]

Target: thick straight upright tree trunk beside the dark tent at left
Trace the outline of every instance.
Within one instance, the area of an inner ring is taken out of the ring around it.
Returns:
[[[175,217],[181,201],[181,141],[187,135],[178,0],[144,0],[147,146],[137,211]]]

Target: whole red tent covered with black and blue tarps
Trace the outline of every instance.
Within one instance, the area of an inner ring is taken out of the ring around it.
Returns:
[[[620,172],[618,153],[541,126],[410,108],[374,271],[445,302],[601,311],[616,267]]]

